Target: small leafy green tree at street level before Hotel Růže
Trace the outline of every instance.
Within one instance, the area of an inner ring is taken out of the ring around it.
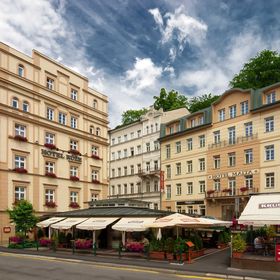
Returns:
[[[38,222],[38,218],[34,215],[32,204],[26,200],[20,200],[12,210],[7,211],[10,215],[10,220],[16,225],[16,232],[23,233],[24,237]]]

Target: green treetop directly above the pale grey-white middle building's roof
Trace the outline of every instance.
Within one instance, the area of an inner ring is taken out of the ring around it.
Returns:
[[[163,111],[186,108],[188,103],[186,96],[178,93],[175,90],[171,90],[167,93],[165,88],[162,88],[160,90],[159,96],[154,96],[154,99],[154,108],[156,110],[162,108]]]

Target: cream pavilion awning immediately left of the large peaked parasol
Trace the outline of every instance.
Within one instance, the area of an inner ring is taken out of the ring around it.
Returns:
[[[112,229],[119,231],[145,231],[149,225],[155,221],[156,218],[122,218]]]

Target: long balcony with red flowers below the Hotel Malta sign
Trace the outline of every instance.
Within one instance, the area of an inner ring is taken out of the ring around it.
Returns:
[[[247,189],[244,187],[235,190],[230,190],[230,189],[223,189],[221,191],[208,190],[205,192],[205,197],[206,199],[245,197],[258,192],[259,192],[258,188]]]

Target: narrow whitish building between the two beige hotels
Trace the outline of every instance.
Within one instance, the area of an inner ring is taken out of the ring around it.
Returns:
[[[150,107],[141,120],[109,131],[110,198],[133,198],[160,208],[160,126],[188,111]]]

